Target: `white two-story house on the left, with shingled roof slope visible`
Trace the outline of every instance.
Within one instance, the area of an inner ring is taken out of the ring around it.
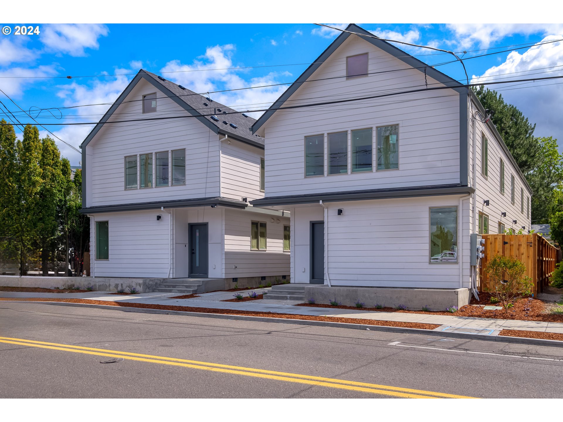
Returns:
[[[91,275],[288,279],[288,214],[249,205],[265,181],[254,122],[140,70],[81,146]]]

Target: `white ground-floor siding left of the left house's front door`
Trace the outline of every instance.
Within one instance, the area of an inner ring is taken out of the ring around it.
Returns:
[[[157,220],[157,214],[162,219]],[[167,277],[169,214],[160,210],[96,214],[91,227],[95,277]],[[109,259],[96,259],[96,221],[109,223]]]

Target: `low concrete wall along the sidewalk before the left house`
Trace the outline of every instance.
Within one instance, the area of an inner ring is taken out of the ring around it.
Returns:
[[[44,289],[75,288],[86,290],[91,287],[95,291],[117,291],[135,288],[138,293],[149,293],[162,282],[163,279],[131,279],[117,277],[43,277],[43,276],[0,276],[0,286],[7,287],[36,287]]]

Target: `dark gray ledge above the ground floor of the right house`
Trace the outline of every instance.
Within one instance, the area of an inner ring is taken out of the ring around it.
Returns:
[[[325,194],[265,197],[251,201],[253,206],[315,204],[323,202],[362,201],[370,199],[395,199],[421,196],[469,195],[475,191],[469,186],[436,185],[399,189],[370,189],[363,191],[327,192]]]

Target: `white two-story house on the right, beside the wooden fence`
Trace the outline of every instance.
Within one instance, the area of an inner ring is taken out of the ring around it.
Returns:
[[[294,283],[468,300],[470,234],[527,232],[530,187],[470,89],[347,31],[253,124],[266,195],[251,203],[291,212]]]

